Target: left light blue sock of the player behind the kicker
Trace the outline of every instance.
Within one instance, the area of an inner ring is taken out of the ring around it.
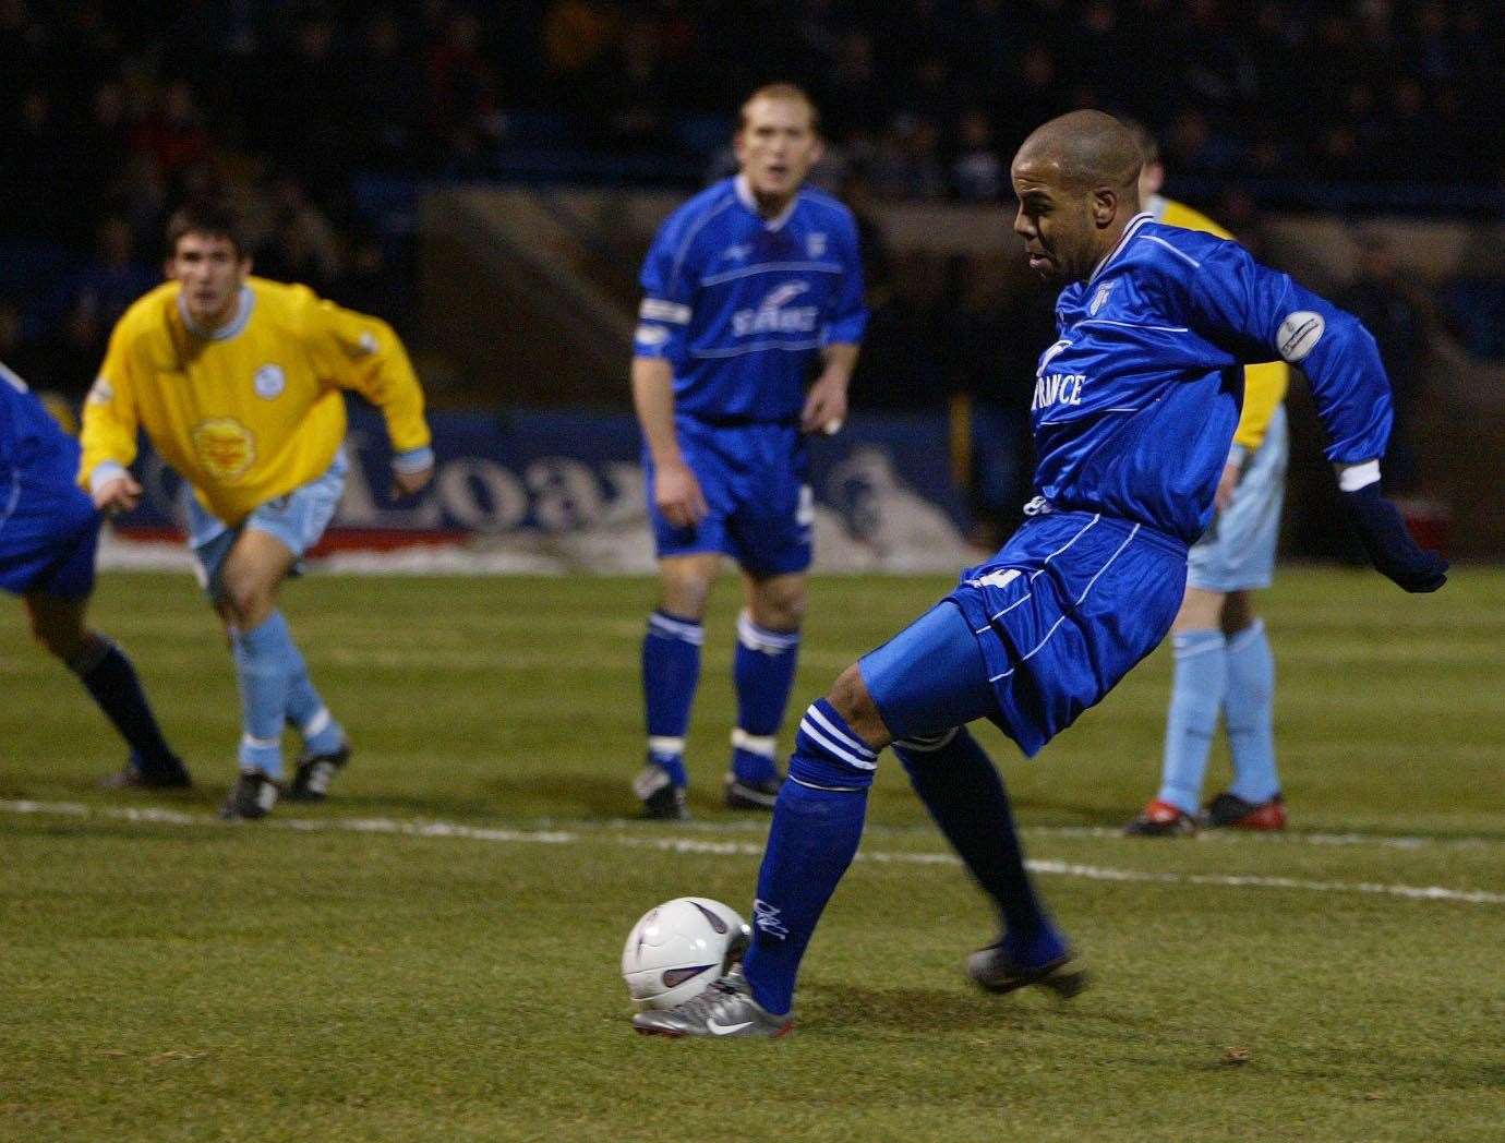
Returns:
[[[1228,690],[1225,640],[1222,631],[1181,631],[1171,637],[1171,646],[1175,675],[1165,720],[1160,792],[1156,797],[1184,813],[1196,813],[1207,774],[1207,751]]]

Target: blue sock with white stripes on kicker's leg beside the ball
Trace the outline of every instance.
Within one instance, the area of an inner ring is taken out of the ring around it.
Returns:
[[[743,961],[752,998],[774,1013],[793,1006],[795,977],[820,913],[862,839],[877,753],[825,699],[805,711],[769,827]]]

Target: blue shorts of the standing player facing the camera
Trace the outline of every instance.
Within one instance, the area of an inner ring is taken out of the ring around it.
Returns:
[[[709,512],[694,527],[670,524],[653,506],[653,458],[644,447],[643,479],[658,557],[718,551],[759,577],[805,571],[816,504],[799,426],[709,425],[677,417],[674,428]]]

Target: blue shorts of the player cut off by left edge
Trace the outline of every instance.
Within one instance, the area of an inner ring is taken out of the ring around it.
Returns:
[[[101,521],[72,473],[0,470],[0,589],[86,598]]]

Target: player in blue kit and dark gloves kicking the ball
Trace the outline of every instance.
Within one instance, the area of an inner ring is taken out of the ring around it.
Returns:
[[[1066,285],[1031,410],[1031,518],[810,706],[745,962],[677,1007],[638,1013],[638,1032],[792,1027],[799,961],[856,854],[885,745],[998,907],[1002,934],[969,958],[972,980],[993,992],[1081,989],[1081,965],[1025,870],[1002,780],[966,723],[990,718],[1032,756],[1171,629],[1239,420],[1242,363],[1302,364],[1374,566],[1409,592],[1446,580],[1446,563],[1415,545],[1379,492],[1391,396],[1374,339],[1239,244],[1139,212],[1139,163],[1133,136],[1102,111],[1052,119],[1020,146],[1014,230],[1029,267]]]

